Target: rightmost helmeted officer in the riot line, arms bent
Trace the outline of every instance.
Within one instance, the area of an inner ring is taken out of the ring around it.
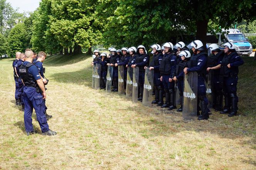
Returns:
[[[238,67],[244,64],[243,59],[236,53],[234,43],[227,42],[224,44],[224,57],[221,61],[220,75],[223,76],[223,91],[225,97],[224,109],[221,114],[229,113],[228,116],[232,117],[237,113],[238,97],[237,80],[238,80]],[[231,109],[230,109],[231,107]]]

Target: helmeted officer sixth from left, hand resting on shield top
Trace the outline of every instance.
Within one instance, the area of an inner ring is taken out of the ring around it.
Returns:
[[[148,65],[149,56],[146,53],[146,48],[143,45],[139,45],[137,47],[138,56],[133,58],[133,65],[132,68],[138,67],[139,68],[139,88],[140,88],[140,97],[138,101],[142,102],[143,98],[143,89],[144,89],[144,78],[145,78],[145,69],[144,67]]]

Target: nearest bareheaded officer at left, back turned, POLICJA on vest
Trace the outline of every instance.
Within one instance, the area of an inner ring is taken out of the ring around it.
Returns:
[[[27,135],[36,133],[32,125],[33,107],[42,131],[42,135],[56,135],[57,133],[49,129],[47,119],[44,114],[44,101],[46,98],[44,82],[42,81],[38,68],[32,63],[33,52],[25,52],[25,62],[20,66],[20,76],[24,82],[24,123]]]

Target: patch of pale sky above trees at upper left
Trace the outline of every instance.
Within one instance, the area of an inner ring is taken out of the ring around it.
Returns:
[[[18,12],[32,12],[37,7],[39,7],[39,2],[41,0],[6,0],[9,2],[13,9],[19,8]]]

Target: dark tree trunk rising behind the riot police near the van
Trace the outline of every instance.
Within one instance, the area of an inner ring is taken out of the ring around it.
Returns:
[[[208,26],[208,20],[200,20],[196,21],[197,26],[197,35],[196,39],[200,40],[204,44],[204,48],[206,49],[206,34],[207,34],[207,26]]]

